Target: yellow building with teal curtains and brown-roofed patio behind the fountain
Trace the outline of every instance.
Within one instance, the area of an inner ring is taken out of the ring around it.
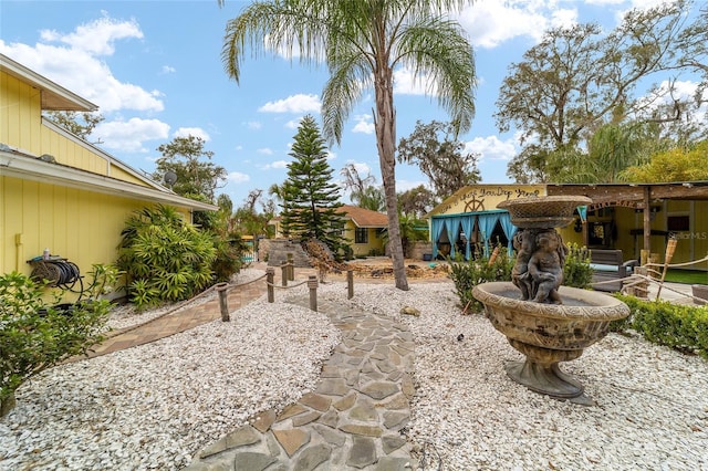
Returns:
[[[560,230],[565,242],[590,249],[621,249],[625,260],[642,251],[663,263],[667,241],[678,241],[671,264],[708,255],[708,181],[607,185],[472,185],[447,198],[427,214],[434,255],[475,257],[476,247],[511,247],[516,232],[503,200],[529,196],[586,196],[575,221]],[[645,211],[645,208],[648,208]],[[702,262],[686,265],[708,270]]]

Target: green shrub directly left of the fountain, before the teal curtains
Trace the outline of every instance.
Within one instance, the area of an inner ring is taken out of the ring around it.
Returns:
[[[483,250],[480,249],[477,253],[483,253]],[[476,285],[490,281],[511,281],[514,261],[508,255],[507,248],[502,245],[498,245],[490,257],[464,261],[458,255],[457,260],[450,260],[450,278],[455,283],[455,293],[466,312],[470,308],[472,312],[483,308],[482,304],[472,296],[472,289]]]

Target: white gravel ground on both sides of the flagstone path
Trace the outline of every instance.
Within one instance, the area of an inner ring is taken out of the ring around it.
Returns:
[[[610,334],[564,365],[597,402],[583,407],[509,380],[503,364],[521,355],[481,315],[459,314],[449,281],[408,292],[357,282],[350,301],[333,282],[319,295],[414,333],[406,432],[421,469],[708,470],[708,363],[699,357]],[[403,306],[420,316],[402,316]],[[310,390],[340,341],[323,315],[282,302],[261,299],[231,318],[24,385],[0,422],[0,469],[179,469],[253,412]]]

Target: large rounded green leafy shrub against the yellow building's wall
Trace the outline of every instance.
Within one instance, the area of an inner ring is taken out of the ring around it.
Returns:
[[[121,232],[117,265],[138,308],[187,300],[214,283],[214,236],[166,206],[135,211]]]

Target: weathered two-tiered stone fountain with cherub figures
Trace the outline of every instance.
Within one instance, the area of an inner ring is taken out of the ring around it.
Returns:
[[[585,197],[555,196],[499,203],[519,228],[512,282],[472,289],[494,328],[527,357],[508,364],[507,375],[533,391],[583,405],[594,402],[559,363],[579,358],[607,335],[612,321],[629,314],[626,304],[607,294],[562,286],[566,247],[555,228],[571,223],[574,209],[590,202]]]

